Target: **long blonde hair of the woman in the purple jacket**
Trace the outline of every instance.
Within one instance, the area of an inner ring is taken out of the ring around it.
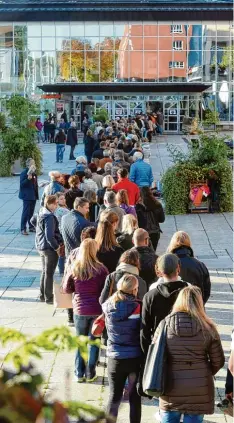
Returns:
[[[98,246],[94,239],[88,238],[82,241],[79,248],[78,258],[73,265],[73,276],[81,281],[91,279],[95,273],[104,267],[97,259]]]

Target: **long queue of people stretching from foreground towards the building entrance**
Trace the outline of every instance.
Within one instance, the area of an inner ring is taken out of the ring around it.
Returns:
[[[200,423],[214,412],[213,379],[224,365],[220,336],[205,312],[210,276],[184,231],[157,255],[165,215],[149,163],[150,136],[138,120],[131,119],[127,130],[122,119],[96,124],[93,132],[87,128],[86,157],[77,157],[71,175],[49,173],[37,216],[36,169],[28,159],[20,177],[21,232],[28,235],[27,225],[35,232],[42,263],[40,301],[54,303],[58,265],[63,292],[73,297],[68,325],[77,335],[94,339],[93,323],[105,315],[107,412],[113,421],[127,391],[129,421],[141,422],[147,353],[166,324],[169,358],[160,419],[179,423],[183,415],[185,423]],[[79,383],[97,379],[98,359],[97,345],[89,347],[87,362],[77,352]]]

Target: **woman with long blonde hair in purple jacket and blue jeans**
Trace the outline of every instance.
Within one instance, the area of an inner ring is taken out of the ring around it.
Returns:
[[[71,272],[64,278],[63,292],[73,295],[74,323],[77,335],[89,336],[94,320],[101,314],[99,296],[104,286],[107,268],[97,259],[97,243],[85,239],[79,248],[78,258],[74,261]],[[96,376],[99,348],[89,346],[87,367],[80,351],[75,359],[75,374],[78,382],[93,382]]]

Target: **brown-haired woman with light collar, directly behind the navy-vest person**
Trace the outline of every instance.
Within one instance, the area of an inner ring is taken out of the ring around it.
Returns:
[[[134,275],[138,279],[137,298],[139,298],[139,300],[143,300],[143,297],[147,292],[147,285],[146,282],[139,276],[139,270],[140,258],[138,251],[135,248],[125,251],[119,259],[116,270],[110,273],[105,280],[105,285],[99,298],[100,304],[103,304],[108,299],[111,286],[112,294],[117,291],[117,284],[126,273]]]

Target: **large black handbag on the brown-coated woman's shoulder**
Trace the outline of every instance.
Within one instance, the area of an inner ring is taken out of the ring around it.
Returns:
[[[160,397],[165,393],[167,362],[167,325],[163,321],[156,343],[148,350],[143,374],[143,391],[151,397]]]

